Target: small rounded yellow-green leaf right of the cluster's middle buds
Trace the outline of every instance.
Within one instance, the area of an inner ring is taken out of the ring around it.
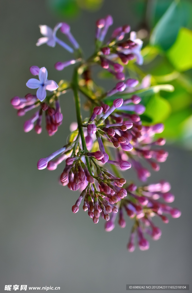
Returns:
[[[170,103],[159,95],[154,95],[146,105],[145,115],[149,116],[153,123],[163,122],[171,113]]]

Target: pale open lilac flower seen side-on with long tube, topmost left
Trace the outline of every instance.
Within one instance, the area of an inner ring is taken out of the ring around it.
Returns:
[[[36,46],[47,44],[49,47],[55,47],[56,43],[58,43],[59,45],[64,47],[64,49],[66,49],[70,53],[73,53],[74,50],[69,45],[56,37],[57,30],[61,26],[62,23],[58,23],[52,30],[52,28],[50,28],[48,25],[39,25],[40,32],[44,37],[38,39]]]

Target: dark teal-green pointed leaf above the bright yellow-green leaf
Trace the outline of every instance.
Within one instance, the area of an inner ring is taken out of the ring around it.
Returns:
[[[180,1],[173,1],[167,11],[160,18],[151,34],[151,45],[160,46],[168,50],[175,42],[179,28],[188,22],[188,9]]]

